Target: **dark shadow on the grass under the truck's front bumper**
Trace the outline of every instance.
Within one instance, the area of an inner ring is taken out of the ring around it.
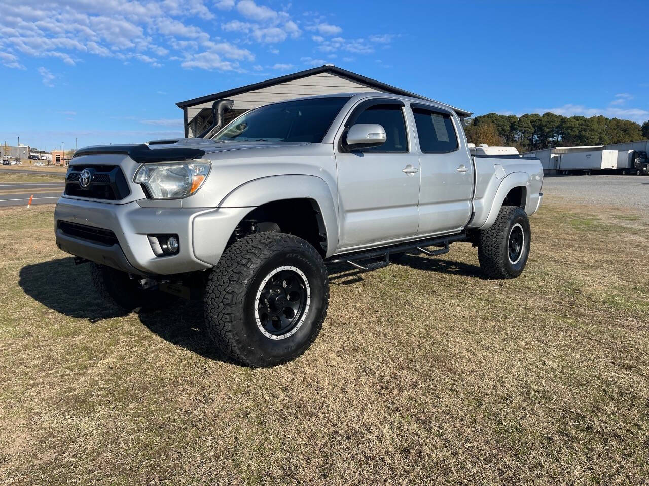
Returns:
[[[90,281],[88,265],[75,265],[72,258],[24,266],[19,285],[25,294],[71,318],[97,323],[129,314],[102,299]],[[164,340],[204,358],[230,362],[204,332],[202,301],[175,302],[163,310],[136,314],[143,325]]]

